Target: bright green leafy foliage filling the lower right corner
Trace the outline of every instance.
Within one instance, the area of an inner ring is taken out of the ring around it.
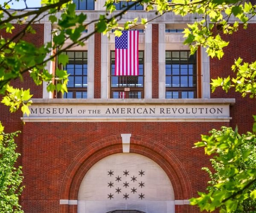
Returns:
[[[212,172],[205,167],[211,181],[208,193],[198,193],[191,204],[201,210],[213,211],[219,207],[225,212],[256,211],[256,137],[250,132],[239,135],[237,130],[222,127],[221,131],[212,130],[211,135],[202,135],[196,147],[204,147],[211,159]]]

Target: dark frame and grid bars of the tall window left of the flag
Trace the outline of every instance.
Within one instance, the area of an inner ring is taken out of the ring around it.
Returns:
[[[69,64],[73,64],[74,65],[74,74],[72,75],[72,74],[70,74],[69,75],[69,77],[68,78],[70,78],[70,77],[74,77],[74,80],[73,80],[73,86],[68,86],[67,85],[67,90],[68,90],[68,93],[70,93],[70,92],[72,92],[72,98],[77,98],[76,96],[76,92],[81,92],[81,98],[87,98],[87,84],[88,84],[88,52],[87,52],[87,50],[86,51],[83,51],[83,50],[81,50],[81,51],[66,51],[66,52],[64,52],[65,54],[68,54],[68,52],[73,52],[74,53],[74,58],[70,58],[69,57],[69,60],[70,59],[74,59],[73,61],[74,61],[74,63],[67,63],[66,64],[66,66],[64,66],[64,70],[67,70],[67,66],[69,65]],[[76,59],[79,59],[79,58],[76,58],[76,53],[78,53],[78,52],[81,52],[82,53],[82,58],[80,58],[80,59],[82,59],[82,63],[76,63]],[[86,53],[86,55],[87,55],[87,57],[84,57],[84,54]],[[86,62],[86,63],[84,63],[84,62]],[[82,64],[82,67],[81,67],[81,72],[82,72],[82,74],[80,74],[80,75],[76,75],[76,67],[75,67],[75,65],[76,64]],[[86,74],[87,75],[85,75],[84,74],[84,65],[86,65],[86,69],[87,69],[87,72],[86,72]],[[67,70],[67,72],[68,72],[68,70]],[[78,87],[78,86],[76,86],[75,85],[75,78],[76,77],[81,77],[81,87]],[[85,83],[84,82],[84,77],[86,77],[86,79],[87,79],[87,82]],[[84,86],[84,84],[86,84],[86,86]],[[85,93],[84,92],[86,92],[86,97],[83,97],[84,95],[85,95]],[[63,98],[67,98],[68,97],[68,93],[67,92],[65,92],[64,93],[64,95],[63,95]]]

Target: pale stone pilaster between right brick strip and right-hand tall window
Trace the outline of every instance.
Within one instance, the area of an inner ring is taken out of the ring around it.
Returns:
[[[158,97],[165,98],[165,24],[159,24],[158,50]]]

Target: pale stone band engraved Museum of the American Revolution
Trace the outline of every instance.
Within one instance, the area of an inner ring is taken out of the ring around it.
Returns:
[[[29,117],[229,117],[229,105],[32,105]]]

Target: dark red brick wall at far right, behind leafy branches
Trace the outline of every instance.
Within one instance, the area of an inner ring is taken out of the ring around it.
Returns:
[[[229,41],[229,45],[224,48],[224,57],[221,60],[210,59],[210,77],[234,76],[231,66],[235,58],[244,59],[244,62],[255,61],[256,58],[256,24],[248,24],[246,30],[239,28],[239,31],[233,35],[223,35],[223,39]],[[204,72],[204,71],[203,71]],[[231,89],[228,93],[221,88],[216,89],[211,94],[211,98],[236,98],[236,104],[230,107],[231,127],[238,126],[240,133],[252,130],[253,117],[256,115],[255,98],[242,98],[241,94]]]

